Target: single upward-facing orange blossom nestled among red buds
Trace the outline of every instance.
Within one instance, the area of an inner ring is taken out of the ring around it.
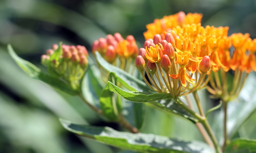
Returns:
[[[163,46],[161,44],[156,44],[155,48],[153,46],[150,46],[150,48],[146,49],[146,58],[151,63],[160,62],[163,56]]]

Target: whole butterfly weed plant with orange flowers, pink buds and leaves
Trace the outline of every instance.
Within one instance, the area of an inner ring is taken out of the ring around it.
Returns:
[[[120,33],[95,40],[91,54],[81,45],[54,44],[41,56],[47,73],[18,57],[10,45],[8,50],[31,78],[79,96],[103,120],[116,122],[128,131],[61,119],[63,127],[73,133],[137,152],[255,152],[255,140],[239,135],[234,139],[239,127],[255,109],[255,101],[240,102],[239,107],[251,105],[251,110],[244,112],[247,117],[235,122],[236,126],[228,127],[228,114],[232,111],[228,106],[236,100],[239,103],[241,98],[238,97],[248,75],[256,71],[256,39],[252,40],[248,33],[228,36],[229,27],[202,27],[201,18],[201,14],[178,12],[155,19],[146,25],[142,48],[138,48],[132,35],[124,39]],[[86,77],[93,84],[90,91],[95,93],[96,103],[89,101],[83,90],[88,85],[83,82]],[[219,99],[219,105],[204,110],[202,103],[207,105],[210,100],[200,101],[198,92],[201,90],[207,90],[211,99]],[[135,123],[123,115],[124,103],[133,103],[137,108],[133,112]],[[143,133],[140,129],[145,106],[188,119],[205,142]],[[218,111],[216,116],[221,116],[214,121],[221,126],[218,127],[221,132],[213,130],[208,122],[212,111]]]

